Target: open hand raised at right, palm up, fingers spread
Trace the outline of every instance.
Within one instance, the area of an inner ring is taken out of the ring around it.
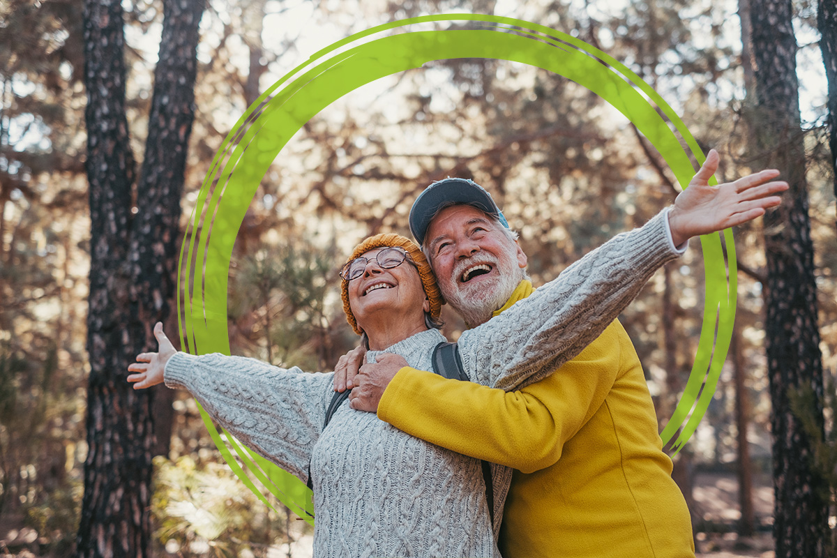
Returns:
[[[715,233],[734,227],[764,214],[768,207],[778,206],[782,198],[774,194],[788,189],[788,182],[774,181],[776,169],[755,172],[734,182],[709,186],[709,179],[718,170],[720,157],[714,149],[683,192],[675,199],[669,212],[671,237],[675,246],[699,234]]]

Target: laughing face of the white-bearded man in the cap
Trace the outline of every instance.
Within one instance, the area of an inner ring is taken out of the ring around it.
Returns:
[[[526,254],[476,207],[445,207],[426,241],[439,289],[468,325],[489,320],[524,278]]]

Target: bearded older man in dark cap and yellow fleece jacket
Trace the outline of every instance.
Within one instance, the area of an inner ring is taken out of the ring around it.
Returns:
[[[707,204],[718,202],[707,182],[717,162],[710,151],[690,183]],[[777,174],[762,171],[732,185],[770,187]],[[669,223],[680,216],[675,202]],[[466,324],[482,324],[533,292],[516,235],[474,182],[435,182],[409,221],[444,298]],[[685,241],[672,238],[678,247]],[[694,556],[689,510],[671,479],[642,367],[619,321],[552,376],[519,392],[448,380],[397,356],[364,364],[354,376],[360,355],[341,358],[338,370],[346,376],[335,381],[338,391],[354,387],[352,407],[515,469],[500,534],[507,558]]]

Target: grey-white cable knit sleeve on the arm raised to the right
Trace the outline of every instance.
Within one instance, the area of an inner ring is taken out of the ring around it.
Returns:
[[[557,279],[485,324],[460,335],[471,381],[511,391],[542,380],[598,337],[661,265],[680,250],[668,211],[608,240]]]

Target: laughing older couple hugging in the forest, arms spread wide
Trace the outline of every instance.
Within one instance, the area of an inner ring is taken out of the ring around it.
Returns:
[[[417,243],[378,234],[343,266],[361,343],[335,372],[188,355],[157,324],[158,351],[138,355],[127,380],[187,389],[310,481],[318,557],[693,557],[689,510],[616,317],[688,238],[757,218],[788,187],[773,170],[710,187],[717,164],[710,151],[672,207],[538,289],[490,194],[434,182],[410,211]],[[462,379],[434,373],[444,302],[470,327],[452,366]]]

